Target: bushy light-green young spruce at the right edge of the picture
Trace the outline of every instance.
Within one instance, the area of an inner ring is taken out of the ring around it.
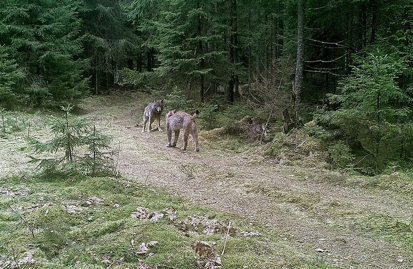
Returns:
[[[389,161],[411,158],[413,112],[411,89],[400,87],[407,65],[395,54],[370,53],[340,83],[341,94],[330,95],[337,111],[329,112],[359,160],[376,171]],[[363,163],[362,163],[363,164]]]

